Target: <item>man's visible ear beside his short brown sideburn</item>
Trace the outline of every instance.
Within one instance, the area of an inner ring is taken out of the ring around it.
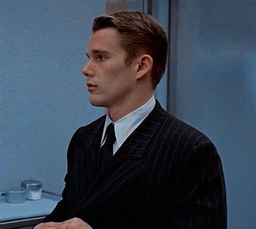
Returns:
[[[138,58],[136,79],[142,79],[152,70],[153,58],[149,54],[143,54]]]

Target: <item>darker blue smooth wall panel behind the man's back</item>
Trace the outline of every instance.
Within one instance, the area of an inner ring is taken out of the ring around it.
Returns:
[[[215,143],[228,228],[255,228],[256,1],[173,2],[178,36],[170,112]]]

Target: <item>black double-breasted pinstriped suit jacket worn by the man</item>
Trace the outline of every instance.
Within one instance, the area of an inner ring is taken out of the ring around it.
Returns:
[[[44,221],[78,217],[94,229],[226,228],[223,169],[204,134],[157,102],[98,173],[104,121],[73,135],[63,199]]]

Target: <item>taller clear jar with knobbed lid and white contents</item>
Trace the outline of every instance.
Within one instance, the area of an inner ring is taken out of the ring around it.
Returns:
[[[26,190],[26,199],[39,200],[42,198],[43,184],[40,181],[36,181],[31,177],[30,180],[23,181],[21,183],[23,189]]]

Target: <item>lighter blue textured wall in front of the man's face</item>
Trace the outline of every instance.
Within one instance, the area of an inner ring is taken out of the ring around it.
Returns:
[[[104,110],[90,106],[82,67],[105,1],[0,1],[0,190],[33,176],[61,192],[74,131]]]

